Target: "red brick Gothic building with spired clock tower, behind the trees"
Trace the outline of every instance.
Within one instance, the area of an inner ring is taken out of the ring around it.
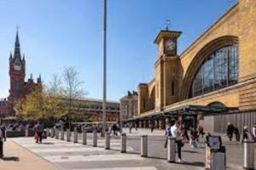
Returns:
[[[32,93],[35,88],[41,88],[42,80],[39,76],[37,82],[33,80],[32,74],[31,77],[25,81],[26,77],[26,59],[25,55],[21,57],[20,53],[20,39],[19,32],[16,33],[15,39],[15,50],[14,53],[9,55],[9,96],[8,100],[2,101],[4,104],[5,117],[6,116],[15,116],[15,105],[16,103],[24,98],[26,94]],[[6,110],[8,107],[8,111]],[[3,108],[0,111],[3,111]]]

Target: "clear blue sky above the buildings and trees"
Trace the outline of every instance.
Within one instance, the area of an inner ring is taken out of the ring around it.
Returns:
[[[181,54],[236,0],[108,0],[108,99],[154,77],[154,37],[171,20]],[[102,99],[102,0],[0,0],[0,98],[9,93],[9,53],[20,27],[26,78],[44,83],[73,66],[87,97]]]

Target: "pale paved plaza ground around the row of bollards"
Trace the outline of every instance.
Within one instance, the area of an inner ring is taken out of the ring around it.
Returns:
[[[127,129],[125,129],[127,132]],[[164,131],[155,130],[150,133],[148,129],[133,129],[127,133],[127,153],[120,153],[119,137],[111,137],[111,150],[105,150],[105,140],[98,134],[98,146],[92,146],[92,135],[88,133],[87,144],[83,145],[81,134],[79,143],[67,142],[61,139],[44,139],[43,144],[36,144],[33,138],[14,138],[15,147],[32,154],[33,159],[41,158],[43,169],[80,169],[80,170],[184,170],[204,169],[205,148],[201,139],[198,149],[191,149],[189,144],[183,147],[183,158],[185,163],[169,163],[166,161],[166,150],[164,150]],[[140,156],[140,135],[148,134],[148,157]],[[66,136],[65,136],[66,137]],[[73,136],[71,138],[73,140]],[[225,141],[225,140],[224,140]],[[227,148],[227,169],[242,169],[243,150],[242,145],[236,142],[224,142]],[[7,145],[9,147],[9,145]],[[20,153],[22,151],[19,151]],[[6,154],[9,156],[8,149]],[[13,156],[18,156],[12,152]],[[24,154],[23,154],[24,155]],[[22,155],[20,156],[22,157]],[[256,158],[256,156],[255,156]],[[26,158],[31,159],[31,158]],[[40,159],[39,159],[40,160]],[[20,159],[20,161],[25,161]],[[4,161],[0,161],[0,165]],[[13,161],[15,163],[15,161]],[[9,162],[11,165],[11,162]],[[38,161],[32,161],[34,166]],[[31,166],[31,165],[30,165]],[[49,167],[51,166],[51,167]],[[42,166],[41,166],[42,167]],[[22,169],[15,167],[12,169]],[[25,168],[24,168],[25,169]],[[29,167],[26,169],[34,169]]]

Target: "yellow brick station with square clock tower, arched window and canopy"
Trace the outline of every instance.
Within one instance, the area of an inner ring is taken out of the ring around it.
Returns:
[[[192,12],[192,11],[191,11]],[[182,54],[181,31],[160,31],[154,78],[138,85],[141,127],[164,128],[170,118],[224,132],[256,122],[256,1],[239,0]]]

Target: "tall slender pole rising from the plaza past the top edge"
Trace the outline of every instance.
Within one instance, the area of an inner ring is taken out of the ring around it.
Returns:
[[[102,103],[102,136],[106,133],[106,99],[107,99],[107,0],[103,0],[103,103]]]

